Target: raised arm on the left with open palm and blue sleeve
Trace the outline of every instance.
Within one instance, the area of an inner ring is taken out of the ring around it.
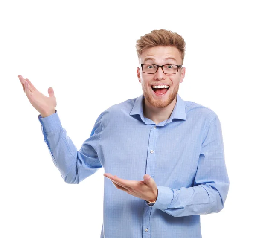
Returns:
[[[38,120],[41,123],[44,141],[47,144],[52,161],[61,172],[61,177],[66,183],[80,183],[86,177],[95,173],[102,165],[97,155],[99,134],[102,131],[102,114],[98,117],[93,130],[80,150],[77,151],[72,140],[67,136],[55,109],[56,97],[53,89],[48,89],[49,97],[40,93],[26,78],[18,75],[23,90],[29,102],[40,113]]]

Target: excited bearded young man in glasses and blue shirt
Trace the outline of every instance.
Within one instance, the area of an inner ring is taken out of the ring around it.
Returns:
[[[220,121],[178,94],[185,77],[180,35],[154,30],[136,48],[143,94],[102,112],[79,151],[61,125],[53,90],[42,110],[31,97],[35,87],[20,81],[44,113],[38,119],[64,181],[77,184],[105,169],[101,238],[201,238],[200,215],[220,212],[229,189]]]

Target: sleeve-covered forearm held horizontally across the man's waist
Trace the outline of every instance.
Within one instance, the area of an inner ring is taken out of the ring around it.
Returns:
[[[229,182],[222,182],[221,186],[215,186],[215,183],[210,186],[210,183],[206,183],[189,188],[182,187],[179,190],[165,186],[157,188],[157,201],[152,207],[174,217],[181,217],[221,211],[227,197]]]

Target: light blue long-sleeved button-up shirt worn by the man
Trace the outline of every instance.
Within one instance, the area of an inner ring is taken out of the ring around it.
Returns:
[[[79,151],[57,110],[38,119],[66,183],[80,183],[102,167],[125,180],[145,174],[155,180],[157,201],[149,206],[104,177],[101,238],[201,238],[200,215],[224,207],[229,178],[221,124],[207,107],[177,94],[170,118],[156,125],[143,116],[142,94],[102,112]]]

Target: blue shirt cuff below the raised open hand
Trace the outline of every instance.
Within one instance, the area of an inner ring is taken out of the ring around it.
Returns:
[[[58,128],[62,128],[61,121],[58,117],[58,113],[56,109],[55,109],[55,113],[47,117],[42,117],[41,114],[39,114],[38,120],[41,123],[41,129],[43,134],[50,131],[54,131]]]

